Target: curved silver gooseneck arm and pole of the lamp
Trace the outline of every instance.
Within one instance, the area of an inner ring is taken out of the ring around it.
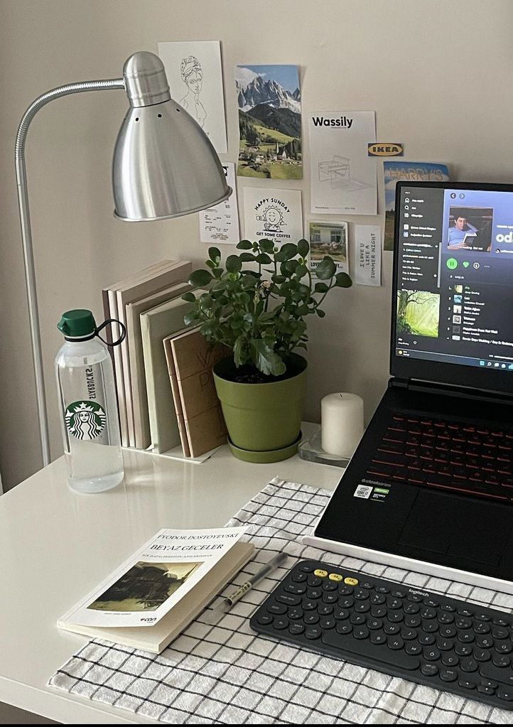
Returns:
[[[43,464],[49,465],[50,444],[48,435],[47,401],[44,395],[43,357],[41,353],[41,332],[39,331],[39,309],[36,292],[36,273],[34,270],[34,257],[32,248],[31,213],[28,206],[27,172],[25,170],[25,142],[28,128],[36,113],[41,108],[62,96],[83,91],[110,91],[110,89],[124,90],[123,79],[108,79],[104,81],[78,81],[76,84],[59,86],[34,100],[23,114],[16,134],[15,163],[18,190],[18,205],[20,207],[21,237],[23,243],[23,260],[25,262],[25,283],[27,286],[28,318],[31,327],[32,357],[34,377],[36,379],[36,398],[39,418],[39,436],[41,438],[41,454]]]

